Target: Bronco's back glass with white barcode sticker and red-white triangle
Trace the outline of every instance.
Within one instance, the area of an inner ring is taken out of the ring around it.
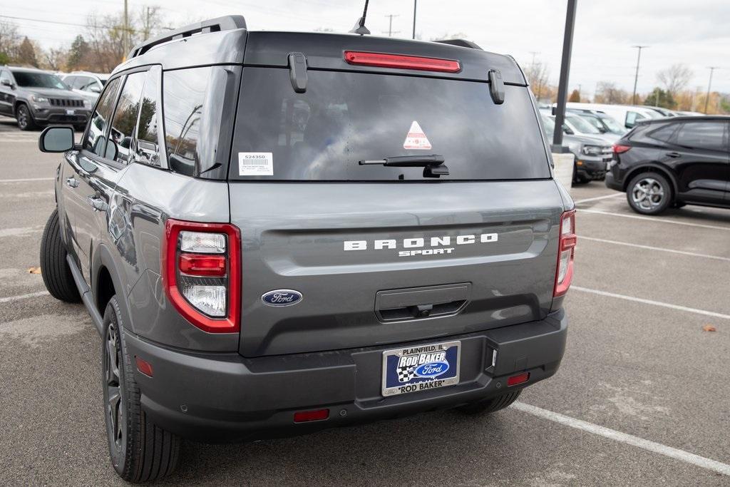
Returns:
[[[310,69],[293,91],[288,69],[246,67],[231,179],[423,180],[421,167],[360,166],[396,156],[444,156],[441,180],[550,177],[525,87]],[[251,166],[259,164],[259,166]]]

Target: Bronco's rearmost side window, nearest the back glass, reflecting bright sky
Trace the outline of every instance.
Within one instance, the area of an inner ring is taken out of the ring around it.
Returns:
[[[165,146],[168,165],[174,172],[195,172],[210,76],[210,67],[164,73]]]

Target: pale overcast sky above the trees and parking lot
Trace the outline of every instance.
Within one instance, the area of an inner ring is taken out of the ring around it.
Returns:
[[[161,7],[164,22],[242,14],[251,29],[348,31],[362,12],[364,0],[129,0],[132,12],[146,5]],[[27,7],[26,7],[27,6]],[[123,0],[0,0],[0,19],[18,25],[22,34],[44,47],[69,42],[93,10],[119,12]],[[464,33],[485,50],[512,54],[527,66],[533,56],[550,67],[557,84],[560,72],[566,0],[418,0],[416,33],[422,39]],[[410,38],[412,0],[371,0],[366,25],[373,34]],[[50,20],[40,23],[5,16]],[[61,23],[79,24],[79,26]],[[730,92],[730,0],[578,0],[570,87],[592,96],[596,83],[613,81],[631,91],[637,50],[642,51],[639,92],[657,85],[656,72],[674,63],[688,65],[689,87],[707,89],[707,66],[715,71],[712,89]]]

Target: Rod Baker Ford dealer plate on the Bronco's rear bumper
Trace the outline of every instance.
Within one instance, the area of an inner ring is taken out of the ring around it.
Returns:
[[[383,396],[458,384],[461,342],[418,345],[383,352]]]

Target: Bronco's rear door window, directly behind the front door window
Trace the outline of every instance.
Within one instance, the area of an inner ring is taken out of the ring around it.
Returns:
[[[122,94],[119,96],[117,110],[114,112],[105,157],[120,164],[127,164],[134,150],[132,137],[134,127],[137,126],[137,113],[146,77],[147,72],[137,72],[127,76]]]

